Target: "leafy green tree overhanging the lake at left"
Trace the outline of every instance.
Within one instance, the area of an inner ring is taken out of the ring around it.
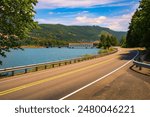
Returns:
[[[34,6],[37,0],[0,0],[0,56],[10,48],[18,49],[21,39],[37,28]]]

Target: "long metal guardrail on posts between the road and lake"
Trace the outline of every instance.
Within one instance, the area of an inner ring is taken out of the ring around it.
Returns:
[[[67,60],[62,60],[62,61],[45,62],[45,63],[39,63],[39,64],[31,64],[31,65],[25,65],[25,66],[17,66],[17,67],[0,69],[0,76],[3,76],[2,74],[9,73],[9,72],[11,74],[6,75],[6,76],[14,76],[15,71],[19,71],[19,70],[23,70],[24,73],[28,73],[29,70],[33,70],[33,69],[35,71],[38,71],[38,70],[41,69],[40,67],[44,67],[44,69],[48,69],[48,67],[55,68],[56,66],[62,66],[62,65],[77,63],[77,62],[80,62],[80,61],[85,61],[85,60],[94,59],[94,58],[102,57],[102,56],[105,56],[105,55],[113,54],[117,51],[118,51],[118,49],[115,49],[113,52],[110,52],[110,53],[103,53],[103,54],[100,54],[100,55],[93,55],[93,56],[90,56],[90,57],[79,57],[79,58],[67,59]]]

